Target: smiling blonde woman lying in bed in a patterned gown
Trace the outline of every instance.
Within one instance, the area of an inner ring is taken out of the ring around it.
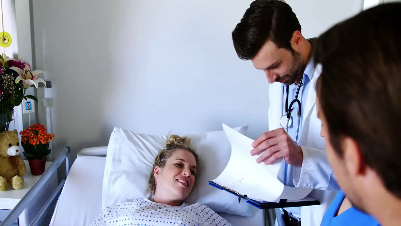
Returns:
[[[198,156],[190,139],[171,135],[156,156],[149,178],[149,199],[130,199],[103,209],[91,225],[218,225],[231,226],[202,203],[188,204]]]

